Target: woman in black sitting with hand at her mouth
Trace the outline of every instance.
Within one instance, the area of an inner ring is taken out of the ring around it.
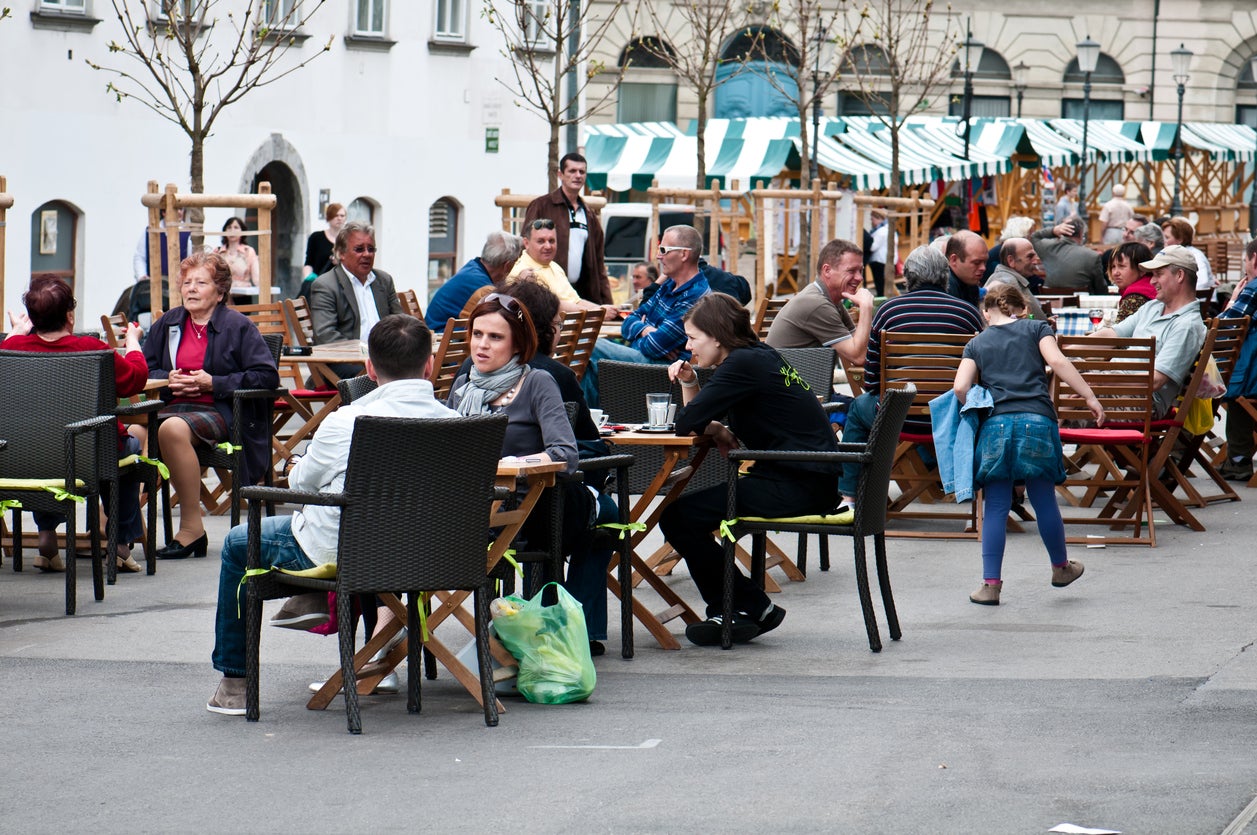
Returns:
[[[836,451],[833,430],[818,395],[777,351],[760,342],[750,314],[724,293],[704,296],[685,316],[689,361],[667,368],[681,384],[676,434],[706,434],[722,453],[735,446],[760,450]],[[705,386],[694,366],[715,367]],[[719,423],[728,416],[729,425]],[[724,610],[724,548],[711,536],[725,518],[728,487],[719,484],[683,495],[660,517],[667,542],[685,558],[706,602],[705,621],[685,636],[700,646],[720,643]],[[762,462],[738,482],[738,514],[763,517],[828,513],[838,503],[838,465]],[[774,606],[754,582],[734,572],[733,640],[749,641],[781,625],[786,610]]]

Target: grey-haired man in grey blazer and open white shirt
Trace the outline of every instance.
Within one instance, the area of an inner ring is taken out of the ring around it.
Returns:
[[[336,267],[310,285],[310,323],[314,345],[366,340],[376,322],[390,313],[401,313],[401,301],[392,275],[375,269],[376,230],[361,220],[341,226],[336,236]],[[341,377],[361,373],[362,366],[332,366]]]

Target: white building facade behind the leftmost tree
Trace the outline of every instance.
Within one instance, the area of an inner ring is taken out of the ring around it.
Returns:
[[[161,9],[128,5],[141,19]],[[210,36],[231,36],[226,13],[239,19],[245,5],[211,5]],[[15,201],[3,301],[20,307],[33,273],[57,272],[74,285],[84,329],[133,280],[146,184],[190,187],[187,136],[138,101],[116,101],[106,84],[117,78],[88,65],[127,65],[108,50],[119,26],[109,0],[16,0],[0,20],[0,175]],[[377,265],[427,298],[500,226],[502,189],[546,191],[547,126],[497,80],[509,77],[502,35],[474,0],[328,0],[295,34],[288,63],[331,49],[230,106],[205,142],[206,194],[265,180],[278,195],[274,280],[285,290],[300,283],[327,202],[368,218]],[[231,214],[206,210],[206,244]]]

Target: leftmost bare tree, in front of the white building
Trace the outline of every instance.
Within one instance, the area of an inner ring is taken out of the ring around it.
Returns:
[[[249,0],[240,18],[228,11],[226,20],[220,20],[214,14],[219,0],[161,0],[162,14],[150,20],[145,0],[112,0],[122,41],[111,40],[109,54],[119,63],[87,63],[117,77],[106,84],[117,101],[133,99],[187,135],[192,141],[191,190],[201,194],[205,140],[219,116],[250,92],[274,84],[332,48],[329,36],[310,55],[299,57],[294,50],[298,39],[293,33],[326,1],[293,1],[283,13],[279,3]],[[277,11],[268,14],[272,9]],[[229,36],[215,38],[220,33]]]

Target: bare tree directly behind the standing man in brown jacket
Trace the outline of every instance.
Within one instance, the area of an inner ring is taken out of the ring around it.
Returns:
[[[625,0],[600,4],[595,14],[591,0],[585,5],[581,0],[484,0],[483,15],[502,33],[502,54],[513,73],[512,79],[498,82],[515,97],[517,107],[533,111],[549,124],[551,191],[558,187],[559,128],[597,113],[620,88],[622,67],[602,96],[586,104],[585,113],[572,107],[606,70],[593,54],[623,5]]]

